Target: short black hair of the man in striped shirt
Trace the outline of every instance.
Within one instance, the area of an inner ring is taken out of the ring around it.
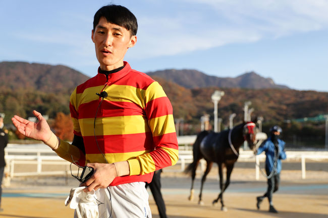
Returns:
[[[137,18],[129,9],[120,5],[107,5],[100,8],[93,18],[93,31],[99,23],[101,17],[112,24],[119,25],[130,31],[131,36],[137,35],[138,22]]]

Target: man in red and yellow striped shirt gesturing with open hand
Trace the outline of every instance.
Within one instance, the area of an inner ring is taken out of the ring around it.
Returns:
[[[151,217],[145,182],[178,160],[168,97],[123,60],[137,42],[137,28],[135,16],[122,6],[104,6],[94,15],[91,39],[100,66],[71,95],[72,144],[54,135],[37,111],[37,123],[12,119],[21,133],[42,140],[60,157],[94,169],[81,186],[96,191],[99,217]]]

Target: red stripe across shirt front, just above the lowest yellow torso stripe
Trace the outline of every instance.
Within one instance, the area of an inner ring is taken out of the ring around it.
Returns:
[[[94,136],[84,136],[83,141],[86,154],[100,154],[99,149],[103,154],[140,152],[154,149],[151,132],[125,135],[99,135],[97,136],[99,149]]]

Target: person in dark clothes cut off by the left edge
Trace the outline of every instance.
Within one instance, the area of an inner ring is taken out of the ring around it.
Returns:
[[[5,148],[8,143],[8,130],[4,130],[4,117],[0,114],[0,211],[3,211],[1,207],[2,196],[2,181],[4,177],[4,170],[6,166],[5,162]]]

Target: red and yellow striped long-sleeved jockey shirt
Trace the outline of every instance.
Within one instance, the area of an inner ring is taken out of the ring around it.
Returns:
[[[155,170],[178,160],[170,100],[157,82],[124,64],[108,80],[98,73],[71,95],[74,134],[83,137],[86,154],[63,141],[56,150],[70,162],[72,158],[79,163],[106,163],[104,157],[107,163],[128,160],[130,175],[115,178],[111,185],[150,182]],[[108,96],[98,108],[101,98],[96,93],[102,91]]]

